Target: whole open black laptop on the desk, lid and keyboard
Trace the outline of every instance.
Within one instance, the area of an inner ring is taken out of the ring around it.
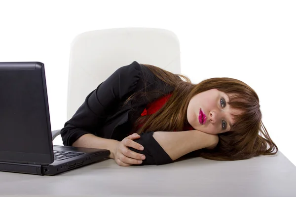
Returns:
[[[0,171],[56,175],[109,150],[53,146],[44,64],[0,63]]]

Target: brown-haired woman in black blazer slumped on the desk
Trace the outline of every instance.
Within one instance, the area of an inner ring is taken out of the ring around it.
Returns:
[[[61,136],[66,146],[108,149],[121,166],[168,164],[197,150],[207,159],[243,160],[278,151],[261,116],[257,94],[239,80],[195,85],[133,62],[86,97]]]

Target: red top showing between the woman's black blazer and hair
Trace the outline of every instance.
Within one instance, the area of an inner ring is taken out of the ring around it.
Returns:
[[[172,96],[172,94],[169,94],[167,96],[161,97],[157,100],[155,100],[152,103],[149,103],[146,108],[143,110],[141,116],[146,116],[146,115],[151,115],[155,112],[157,112],[167,101],[168,99]],[[140,125],[138,129],[141,127]],[[194,130],[191,125],[185,125],[183,131],[189,131],[189,130]]]

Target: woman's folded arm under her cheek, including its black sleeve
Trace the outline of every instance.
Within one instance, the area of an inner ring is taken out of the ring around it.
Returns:
[[[132,147],[130,150],[144,154],[144,165],[169,164],[192,151],[213,148],[218,143],[218,135],[202,131],[148,131],[141,134],[135,142],[144,146],[143,151]]]

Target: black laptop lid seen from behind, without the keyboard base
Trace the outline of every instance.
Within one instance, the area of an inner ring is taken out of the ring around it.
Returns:
[[[0,161],[54,161],[42,63],[0,63]]]

